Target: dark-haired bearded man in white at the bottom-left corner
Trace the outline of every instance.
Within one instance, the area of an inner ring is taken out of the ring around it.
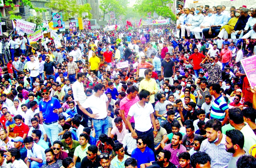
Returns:
[[[12,163],[12,168],[28,168],[20,158],[20,152],[16,148],[11,148],[6,152],[6,163]]]

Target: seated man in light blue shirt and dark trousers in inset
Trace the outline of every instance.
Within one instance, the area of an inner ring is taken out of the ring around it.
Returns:
[[[216,7],[217,13],[213,15],[212,22],[210,24],[210,28],[203,29],[204,38],[210,39],[216,37],[222,26],[228,23],[228,16],[222,13],[222,6],[218,5]]]

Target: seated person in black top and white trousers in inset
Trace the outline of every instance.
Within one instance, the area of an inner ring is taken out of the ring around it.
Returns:
[[[242,8],[241,11],[237,10],[236,17],[238,16],[240,17],[237,20],[236,26],[234,27],[234,30],[231,31],[230,33],[231,39],[236,39],[237,38],[236,36],[239,34],[240,34],[239,38],[242,38],[243,30],[245,29],[246,23],[250,18],[250,15],[248,15],[246,8]]]

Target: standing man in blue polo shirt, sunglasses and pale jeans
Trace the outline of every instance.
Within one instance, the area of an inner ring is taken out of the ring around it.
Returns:
[[[58,140],[58,114],[62,113],[62,108],[59,100],[50,96],[47,87],[43,87],[41,93],[43,99],[39,102],[39,116],[44,122],[45,132],[53,145],[53,142]]]

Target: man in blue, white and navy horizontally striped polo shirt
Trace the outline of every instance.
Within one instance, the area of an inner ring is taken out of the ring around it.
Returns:
[[[218,119],[222,122],[222,126],[228,121],[228,105],[222,94],[219,93],[221,86],[217,83],[213,83],[210,86],[210,94],[214,96],[215,100],[212,103],[211,118]]]

